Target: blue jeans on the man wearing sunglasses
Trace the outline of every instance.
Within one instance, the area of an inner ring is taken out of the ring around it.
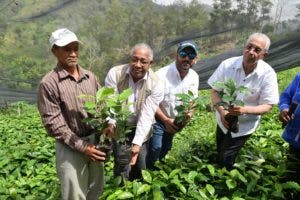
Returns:
[[[147,168],[155,169],[154,163],[162,160],[172,147],[174,134],[167,133],[163,122],[157,120],[153,125],[153,135],[150,139],[147,155]]]

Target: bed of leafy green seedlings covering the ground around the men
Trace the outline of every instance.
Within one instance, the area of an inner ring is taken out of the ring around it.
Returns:
[[[279,82],[290,82],[299,69],[279,73]],[[287,171],[292,163],[287,160],[288,145],[281,138],[276,107],[262,117],[232,171],[216,164],[214,132],[214,114],[196,113],[176,135],[164,163],[156,163],[159,170],[144,171],[141,181],[113,178],[113,162],[106,162],[101,199],[291,199],[299,195],[300,181],[292,180]],[[20,102],[2,109],[0,135],[0,199],[59,199],[54,140],[42,127],[36,107]]]

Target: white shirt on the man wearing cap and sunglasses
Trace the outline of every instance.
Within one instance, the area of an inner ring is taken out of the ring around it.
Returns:
[[[187,75],[181,80],[175,62],[159,69],[155,73],[163,82],[164,87],[164,99],[160,104],[160,108],[165,115],[174,119],[177,115],[175,110],[175,106],[177,105],[175,95],[187,93],[190,90],[197,97],[199,76],[193,69],[189,69]]]

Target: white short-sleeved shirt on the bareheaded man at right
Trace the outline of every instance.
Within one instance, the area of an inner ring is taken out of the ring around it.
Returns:
[[[246,86],[250,92],[248,94],[238,94],[237,99],[242,100],[247,106],[257,106],[261,104],[277,104],[279,99],[277,75],[273,68],[259,60],[254,71],[247,76],[243,69],[243,56],[224,60],[207,83],[215,90],[215,81],[224,82],[232,78],[238,86]],[[227,129],[223,126],[220,114],[216,111],[216,119],[219,127],[224,133]],[[249,135],[255,131],[260,121],[260,115],[244,114],[239,116],[239,132],[231,133],[232,137]]]

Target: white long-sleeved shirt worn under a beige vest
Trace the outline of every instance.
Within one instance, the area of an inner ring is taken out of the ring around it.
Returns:
[[[154,121],[154,114],[158,108],[159,103],[163,99],[163,88],[161,84],[156,84],[151,91],[151,94],[146,98],[139,118],[137,119],[137,99],[139,96],[139,90],[141,89],[143,82],[147,80],[149,74],[146,75],[136,83],[134,83],[130,73],[129,68],[126,71],[129,74],[129,88],[132,89],[133,93],[128,97],[128,103],[132,104],[129,109],[132,112],[132,116],[128,119],[128,125],[136,125],[136,132],[133,138],[132,143],[142,146],[144,140],[146,139],[151,126]],[[117,92],[117,75],[116,75],[116,67],[113,67],[109,70],[106,78],[105,78],[105,86],[113,87]]]

